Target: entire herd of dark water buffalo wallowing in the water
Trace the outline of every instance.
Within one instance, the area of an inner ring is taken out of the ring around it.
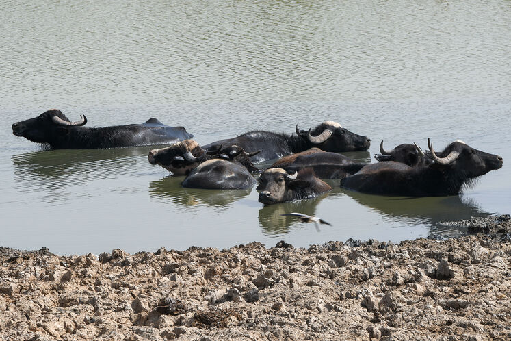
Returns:
[[[340,179],[341,186],[369,194],[431,197],[456,195],[473,179],[502,167],[499,155],[484,153],[456,140],[435,152],[417,144],[386,151],[383,142],[375,164],[361,164],[339,153],[367,151],[371,140],[325,121],[296,134],[250,131],[235,138],[200,146],[184,127],[169,127],[155,118],[142,124],[83,127],[87,118],[71,122],[60,110],[14,123],[13,134],[53,149],[99,149],[171,144],[149,152],[150,164],[174,175],[186,175],[183,187],[246,189],[256,182],[259,201],[268,205],[314,197],[332,190],[322,179]],[[253,162],[278,159],[259,178]]]

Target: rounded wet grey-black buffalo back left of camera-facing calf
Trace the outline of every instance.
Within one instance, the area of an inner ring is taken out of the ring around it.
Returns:
[[[244,190],[256,179],[238,162],[211,159],[199,164],[183,181],[183,187],[215,190]]]

